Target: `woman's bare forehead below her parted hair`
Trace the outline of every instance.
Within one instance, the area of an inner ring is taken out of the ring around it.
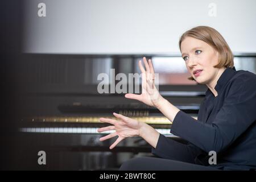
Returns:
[[[195,39],[188,36],[183,40],[183,42],[181,42],[181,45],[180,45],[181,53],[188,53],[193,48],[196,48],[196,47],[207,48],[210,46],[202,40]]]

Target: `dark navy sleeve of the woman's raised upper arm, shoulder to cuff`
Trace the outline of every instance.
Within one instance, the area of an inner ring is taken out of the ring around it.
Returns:
[[[255,90],[255,77],[253,82],[241,80],[230,86],[228,96],[212,123],[196,121],[179,111],[172,123],[171,133],[205,152],[221,152],[256,120]]]

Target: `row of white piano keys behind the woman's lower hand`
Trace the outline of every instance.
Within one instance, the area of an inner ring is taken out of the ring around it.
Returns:
[[[74,133],[74,134],[110,134],[114,131],[98,133],[98,127],[22,127],[20,132],[25,133]],[[173,135],[170,129],[155,129],[163,135]]]

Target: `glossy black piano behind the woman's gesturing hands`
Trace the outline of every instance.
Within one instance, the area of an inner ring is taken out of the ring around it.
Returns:
[[[146,57],[153,60],[156,72],[161,70],[162,60]],[[115,138],[100,142],[99,138],[108,132],[98,133],[97,129],[108,124],[99,119],[112,118],[113,112],[146,122],[166,137],[186,142],[171,134],[171,122],[154,107],[129,100],[123,93],[97,92],[99,73],[109,73],[110,68],[116,73],[139,73],[139,59],[141,55],[23,54],[18,63],[18,133],[20,154],[26,164],[23,168],[111,170],[127,159],[152,156],[149,144],[139,137],[127,138],[113,150],[109,146]],[[174,77],[172,82],[170,76]],[[182,70],[160,73],[159,91],[197,118],[206,88],[187,82],[187,77]],[[47,165],[38,164],[38,151],[46,152]]]

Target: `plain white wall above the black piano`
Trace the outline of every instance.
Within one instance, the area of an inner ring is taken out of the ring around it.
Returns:
[[[46,17],[38,3],[46,3]],[[217,16],[210,17],[210,3]],[[189,28],[216,28],[233,52],[256,52],[255,0],[27,0],[24,52],[179,53]]]

